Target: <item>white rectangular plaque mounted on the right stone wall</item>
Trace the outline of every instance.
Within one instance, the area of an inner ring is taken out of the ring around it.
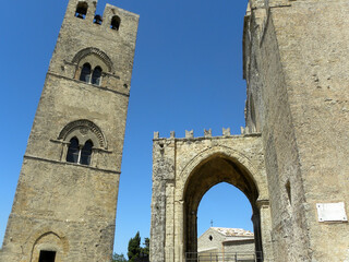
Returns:
[[[316,204],[318,222],[347,222],[345,203],[318,203]]]

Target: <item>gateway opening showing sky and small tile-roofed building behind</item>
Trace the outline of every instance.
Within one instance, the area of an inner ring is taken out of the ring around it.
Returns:
[[[254,262],[251,217],[250,201],[238,188],[226,182],[210,188],[197,210],[198,261]]]

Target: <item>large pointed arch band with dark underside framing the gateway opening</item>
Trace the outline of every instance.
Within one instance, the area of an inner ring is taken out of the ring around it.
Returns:
[[[219,146],[221,147],[221,146]],[[225,150],[208,150],[200,153],[186,166],[186,179],[182,188],[184,251],[197,251],[197,207],[204,194],[220,182],[228,182],[240,189],[250,200],[253,210],[253,227],[255,233],[255,251],[262,252],[261,214],[257,206],[260,196],[255,176],[245,165],[241,153]],[[242,163],[244,164],[242,164]],[[185,169],[185,168],[184,168]],[[261,261],[261,259],[257,259]]]

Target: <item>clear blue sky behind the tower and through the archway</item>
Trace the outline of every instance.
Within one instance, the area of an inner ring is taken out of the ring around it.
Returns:
[[[68,0],[2,1],[0,25],[0,241],[11,212],[27,138]],[[149,236],[153,132],[185,130],[202,136],[244,126],[242,26],[246,0],[99,0],[141,15],[122,174],[115,251],[127,253],[140,230]],[[136,182],[135,182],[136,181]],[[239,215],[237,215],[239,214]],[[204,195],[198,234],[217,227],[252,230],[251,206],[232,186]],[[143,241],[143,240],[142,240]]]

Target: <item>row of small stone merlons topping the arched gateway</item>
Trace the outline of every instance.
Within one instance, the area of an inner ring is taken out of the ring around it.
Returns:
[[[212,129],[204,129],[204,136],[194,136],[194,130],[185,130],[185,138],[176,138],[176,132],[171,131],[170,132],[170,138],[160,138],[160,133],[159,132],[154,132],[154,141],[156,140],[202,140],[202,139],[210,139],[210,138],[240,138],[240,136],[260,136],[260,133],[250,133],[248,128],[242,128],[241,127],[241,134],[231,134],[230,128],[222,128],[221,130],[221,135],[219,136],[213,136],[212,135]]]

